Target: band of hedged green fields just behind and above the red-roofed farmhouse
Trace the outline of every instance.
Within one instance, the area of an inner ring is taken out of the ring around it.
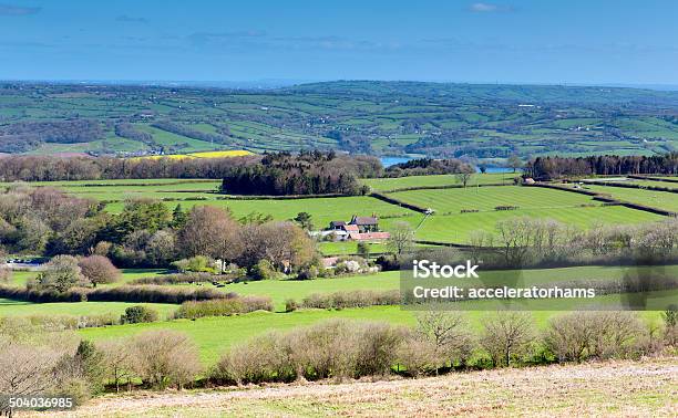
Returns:
[[[121,212],[126,200],[148,198],[162,199],[170,209],[174,209],[177,205],[184,209],[199,205],[216,206],[229,210],[237,219],[254,215],[270,216],[275,220],[290,220],[299,212],[308,212],[316,229],[326,228],[332,220],[349,220],[353,215],[376,215],[380,218],[380,228],[383,230],[388,231],[394,222],[407,222],[417,229],[418,240],[450,243],[468,243],[469,236],[473,231],[494,232],[496,222],[513,217],[548,218],[582,229],[597,224],[633,224],[664,219],[647,211],[604,206],[593,197],[582,194],[512,186],[513,177],[513,174],[474,175],[471,179],[473,186],[466,188],[460,187],[454,176],[361,180],[373,190],[398,201],[433,209],[434,215],[425,219],[422,213],[370,196],[304,199],[229,198],[216,192],[220,186],[219,180],[85,180],[33,185],[53,186],[79,197],[106,201],[105,209],[112,213]],[[504,181],[507,186],[486,186]],[[665,181],[641,181],[659,186],[671,185]],[[423,189],[410,189],[417,187]],[[678,194],[612,186],[585,185],[584,187],[619,200],[678,211]],[[497,210],[497,207],[512,208]],[[325,253],[331,254],[356,252],[355,243],[352,245],[323,243],[321,248]],[[383,252],[383,247],[373,247],[372,252]]]

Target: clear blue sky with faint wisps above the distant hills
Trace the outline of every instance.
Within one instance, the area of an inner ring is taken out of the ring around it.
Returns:
[[[672,0],[0,0],[0,79],[678,85],[676,18]]]

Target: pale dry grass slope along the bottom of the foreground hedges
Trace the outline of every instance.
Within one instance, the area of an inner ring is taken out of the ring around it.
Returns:
[[[51,414],[53,416],[54,414]],[[422,379],[106,396],[63,416],[678,416],[678,357]]]

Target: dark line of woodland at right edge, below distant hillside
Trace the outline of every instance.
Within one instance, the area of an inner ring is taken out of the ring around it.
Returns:
[[[678,175],[678,153],[657,156],[537,157],[525,166],[525,175],[537,180],[566,176]]]

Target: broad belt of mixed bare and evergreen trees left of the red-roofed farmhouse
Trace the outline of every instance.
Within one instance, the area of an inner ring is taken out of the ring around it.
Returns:
[[[219,208],[170,210],[156,200],[129,201],[113,215],[99,203],[45,187],[11,187],[0,195],[2,252],[96,254],[121,267],[170,267],[202,255],[248,271],[265,263],[278,272],[297,271],[317,260],[311,239],[291,222],[240,223]],[[71,283],[76,284],[78,280]]]

